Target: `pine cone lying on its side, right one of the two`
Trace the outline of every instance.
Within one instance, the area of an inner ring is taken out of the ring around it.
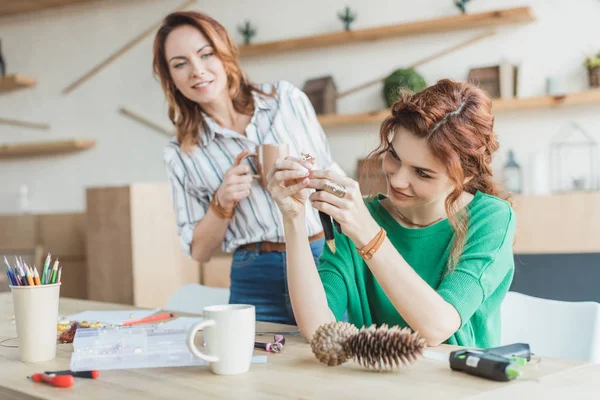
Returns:
[[[425,339],[409,328],[382,325],[363,327],[348,340],[348,347],[356,362],[379,371],[391,370],[402,364],[411,364],[422,355]]]

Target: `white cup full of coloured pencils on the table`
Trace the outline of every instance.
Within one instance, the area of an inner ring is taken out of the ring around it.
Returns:
[[[17,323],[19,358],[23,362],[43,362],[56,357],[56,321],[62,267],[46,257],[42,273],[15,257],[4,257],[13,295]]]

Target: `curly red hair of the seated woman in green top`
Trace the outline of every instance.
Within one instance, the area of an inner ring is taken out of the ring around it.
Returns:
[[[492,100],[487,94],[468,82],[443,79],[416,94],[402,92],[392,105],[391,115],[381,124],[379,146],[365,161],[365,174],[373,176],[374,171],[381,170],[381,158],[398,127],[427,140],[454,185],[445,202],[456,235],[450,270],[462,254],[467,234],[468,216],[457,210],[461,194],[481,191],[510,202],[508,193],[493,178],[491,163],[498,150],[498,138],[491,109]],[[464,183],[467,178],[470,180]]]

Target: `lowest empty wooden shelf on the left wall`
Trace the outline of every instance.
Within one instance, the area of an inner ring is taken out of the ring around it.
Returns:
[[[0,159],[72,153],[94,147],[94,140],[72,139],[0,145]]]

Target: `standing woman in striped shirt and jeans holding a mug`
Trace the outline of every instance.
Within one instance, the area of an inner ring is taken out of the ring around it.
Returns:
[[[249,82],[225,28],[199,12],[164,19],[153,68],[177,134],[164,161],[183,250],[199,262],[219,247],[233,252],[230,303],[255,305],[258,320],[294,324],[281,213],[253,181],[256,165],[240,160],[258,145],[287,143],[292,156],[310,153],[319,168],[339,169],[311,103],[289,82]],[[316,210],[305,229],[316,260],[324,243]]]

